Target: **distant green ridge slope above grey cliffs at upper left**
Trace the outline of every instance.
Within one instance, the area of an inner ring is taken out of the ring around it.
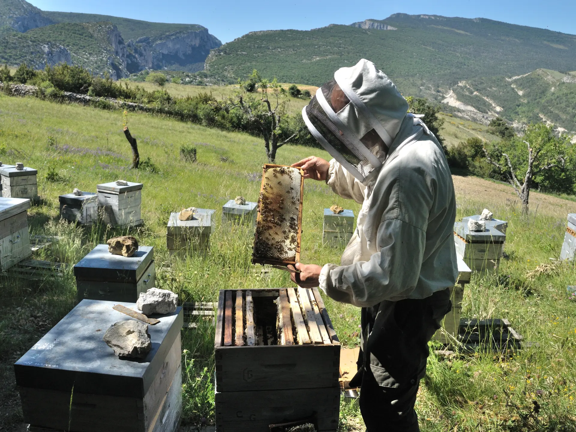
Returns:
[[[199,24],[168,24],[165,22],[149,22],[141,20],[132,20],[131,18],[113,17],[109,15],[99,15],[93,13],[75,13],[75,12],[51,12],[45,10],[44,15],[55,22],[100,22],[107,21],[115,24],[124,41],[130,39],[137,40],[139,37],[156,37],[166,33],[180,31],[196,31],[204,27]]]

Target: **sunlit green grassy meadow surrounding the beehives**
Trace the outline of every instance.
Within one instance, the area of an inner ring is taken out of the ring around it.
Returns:
[[[464,134],[461,126],[467,123],[451,121],[457,123],[449,123],[451,133]],[[29,210],[31,233],[60,236],[50,249],[37,253],[37,259],[74,264],[94,245],[119,234],[106,226],[82,228],[59,221],[58,195],[75,187],[95,191],[98,183],[123,179],[144,184],[144,225],[133,233],[141,244],[154,246],[157,287],[175,291],[181,301],[214,301],[224,288],[293,286],[280,270],[272,270],[270,278],[255,276],[250,263],[252,232],[228,232],[219,223],[222,204],[229,199],[243,195],[257,200],[266,162],[262,139],[129,113],[128,127],[138,139],[141,160],[151,162],[149,169],[134,170],[128,169],[130,146],[122,122],[121,111],[0,95],[1,160],[21,161],[39,170],[42,200]],[[471,129],[472,125],[466,132]],[[180,160],[182,145],[196,146],[198,162]],[[276,162],[291,164],[311,154],[328,157],[319,149],[286,145]],[[473,276],[464,291],[463,316],[507,318],[531,344],[502,355],[431,355],[416,404],[420,427],[425,432],[576,431],[576,302],[566,294],[576,271],[551,260],[559,255],[566,214],[576,212],[576,203],[533,192],[530,214],[521,215],[513,190],[503,184],[458,176],[454,183],[457,220],[487,207],[495,217],[509,221],[507,258],[498,275]],[[499,188],[498,194],[491,193],[492,185]],[[327,185],[306,181],[304,263],[339,262],[342,249],[325,248],[321,242],[323,209],[332,204],[355,214],[359,210]],[[170,257],[165,243],[169,213],[190,206],[216,210],[211,251],[206,258]],[[75,298],[71,267],[62,278],[33,285],[13,271],[0,274],[0,430],[18,430],[22,422],[14,361],[69,312]],[[359,309],[325,301],[343,346],[357,346]],[[182,334],[183,423],[190,430],[214,424],[213,334],[209,321]],[[343,400],[339,431],[361,431],[362,426],[358,408]]]

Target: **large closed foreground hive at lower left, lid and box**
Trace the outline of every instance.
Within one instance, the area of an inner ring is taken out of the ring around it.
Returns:
[[[182,308],[148,325],[143,360],[116,357],[106,330],[132,317],[116,302],[82,300],[15,364],[31,431],[173,432],[181,413]],[[136,305],[125,303],[131,309]]]

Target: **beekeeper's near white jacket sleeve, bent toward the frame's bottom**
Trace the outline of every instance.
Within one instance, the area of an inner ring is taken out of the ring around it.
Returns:
[[[364,307],[408,297],[414,291],[424,259],[434,192],[418,170],[395,169],[370,200],[377,214],[371,228],[377,230],[378,252],[349,266],[326,264],[319,281],[334,300]]]

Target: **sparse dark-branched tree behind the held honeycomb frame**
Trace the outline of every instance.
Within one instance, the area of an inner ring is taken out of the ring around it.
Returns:
[[[256,82],[257,89],[262,92],[260,98],[248,94],[245,85],[247,82]],[[287,142],[296,138],[303,130],[294,132],[290,137],[281,139],[282,120],[286,115],[287,100],[286,89],[284,89],[276,78],[272,81],[263,79],[256,69],[248,81],[241,83],[240,90],[236,96],[230,98],[229,109],[241,109],[242,113],[247,116],[248,121],[252,123],[264,138],[264,148],[268,162],[274,163],[276,160],[276,151]]]

